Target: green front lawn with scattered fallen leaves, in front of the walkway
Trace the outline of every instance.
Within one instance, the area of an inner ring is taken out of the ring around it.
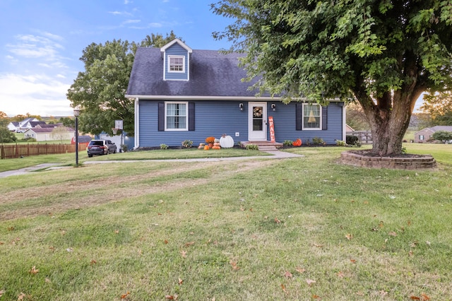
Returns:
[[[0,300],[452,300],[450,148],[435,171],[346,149],[0,179]]]

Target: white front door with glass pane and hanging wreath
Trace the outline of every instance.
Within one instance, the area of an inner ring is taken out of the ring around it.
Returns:
[[[267,102],[249,102],[248,140],[267,140]]]

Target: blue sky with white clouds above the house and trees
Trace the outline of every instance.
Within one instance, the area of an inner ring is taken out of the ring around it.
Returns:
[[[1,0],[0,111],[8,116],[72,114],[66,92],[92,42],[140,42],[171,30],[192,49],[222,49],[213,31],[231,19],[210,11],[214,0]]]

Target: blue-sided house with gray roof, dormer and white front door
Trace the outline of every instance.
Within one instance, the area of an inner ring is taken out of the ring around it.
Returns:
[[[345,141],[344,102],[285,105],[269,95],[256,97],[252,83],[242,81],[242,55],[193,50],[178,39],[162,48],[138,48],[126,93],[135,100],[135,147],[198,144],[222,134],[236,143],[270,141],[269,117],[277,142]]]

